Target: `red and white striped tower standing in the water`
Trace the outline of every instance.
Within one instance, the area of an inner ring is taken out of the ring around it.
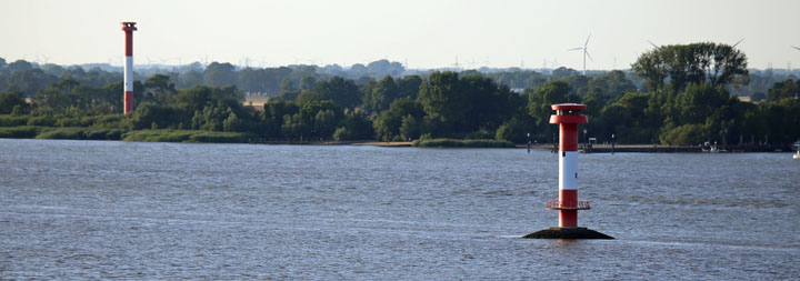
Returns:
[[[589,201],[578,201],[578,124],[588,123],[581,114],[586,106],[553,104],[551,124],[559,124],[559,200],[547,203],[559,211],[559,228],[578,228],[578,210],[588,210]]]

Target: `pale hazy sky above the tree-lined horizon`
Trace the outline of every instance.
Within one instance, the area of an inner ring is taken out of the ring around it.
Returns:
[[[628,68],[657,44],[736,43],[749,67],[800,68],[800,1],[153,1],[0,0],[0,57],[121,66],[121,21],[137,21],[136,63],[223,61],[411,68]]]

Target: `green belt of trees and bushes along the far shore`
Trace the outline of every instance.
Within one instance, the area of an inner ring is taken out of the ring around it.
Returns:
[[[581,141],[614,136],[617,143],[724,147],[800,139],[800,80],[751,73],[747,56],[723,43],[663,46],[630,70],[587,74],[566,68],[408,74],[384,60],[359,66],[213,62],[137,72],[147,79],[134,82],[134,111],[122,114],[117,71],[0,58],[0,138],[496,148],[552,143],[550,106],[576,102],[588,107]],[[264,103],[248,104],[247,97]]]

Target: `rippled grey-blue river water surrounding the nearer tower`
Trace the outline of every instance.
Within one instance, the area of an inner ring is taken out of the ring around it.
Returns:
[[[798,279],[790,153],[581,154],[0,139],[2,279]]]

